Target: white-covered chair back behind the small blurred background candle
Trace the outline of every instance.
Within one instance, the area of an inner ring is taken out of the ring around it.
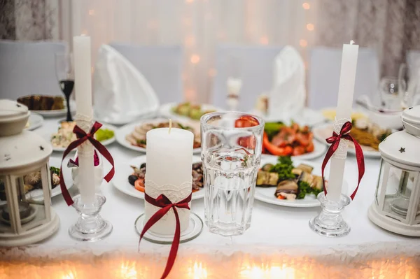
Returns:
[[[251,111],[258,95],[272,90],[274,59],[282,48],[261,45],[218,45],[211,103],[220,108],[227,108],[227,81],[231,74],[229,63],[235,58],[235,62],[239,64],[237,66],[242,80],[237,110]]]

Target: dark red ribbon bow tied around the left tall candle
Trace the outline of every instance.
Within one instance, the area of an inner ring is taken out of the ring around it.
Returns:
[[[85,141],[90,141],[90,143],[92,143],[94,148],[96,148],[98,150],[98,152],[100,154],[102,154],[112,165],[111,171],[109,171],[109,173],[107,173],[106,176],[104,177],[106,182],[109,182],[109,181],[111,181],[114,173],[116,172],[115,169],[114,169],[113,157],[111,156],[111,153],[109,153],[109,151],[105,148],[105,146],[102,145],[102,143],[100,143],[99,141],[97,141],[96,138],[93,137],[94,133],[96,133],[97,130],[99,130],[99,128],[101,128],[101,127],[102,127],[101,123],[94,122],[94,124],[92,126],[92,129],[90,129],[90,132],[88,134],[86,134],[86,132],[83,131],[83,129],[81,129],[80,127],[78,127],[76,125],[73,128],[73,133],[76,134],[77,139],[76,139],[76,141],[72,141],[69,144],[69,146],[66,148],[66,150],[63,153],[62,161],[64,161],[64,158],[67,155],[69,155],[71,150],[77,148],[79,145],[81,145]],[[92,161],[93,161],[93,158],[92,158]],[[69,191],[67,190],[67,187],[66,187],[66,183],[64,182],[62,164],[59,166],[59,187],[62,190],[62,194],[63,194],[64,200],[66,201],[67,205],[71,206],[73,204],[73,199],[71,199]]]

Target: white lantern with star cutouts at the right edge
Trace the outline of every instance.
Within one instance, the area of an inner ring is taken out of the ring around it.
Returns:
[[[420,106],[402,113],[404,131],[379,144],[381,171],[369,219],[396,234],[420,236]]]

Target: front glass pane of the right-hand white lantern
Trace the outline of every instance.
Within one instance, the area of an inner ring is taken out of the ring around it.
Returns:
[[[384,200],[384,212],[396,220],[406,220],[409,199],[414,189],[414,182],[418,173],[405,171],[395,166],[390,166],[386,193]]]

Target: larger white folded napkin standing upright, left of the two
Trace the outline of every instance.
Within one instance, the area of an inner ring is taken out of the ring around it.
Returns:
[[[132,122],[160,105],[146,78],[109,45],[99,48],[93,88],[95,116],[111,124]]]

